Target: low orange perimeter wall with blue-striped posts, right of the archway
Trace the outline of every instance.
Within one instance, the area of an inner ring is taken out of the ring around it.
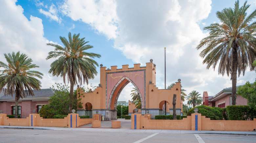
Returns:
[[[199,113],[194,113],[182,120],[155,120],[150,114],[132,114],[132,129],[157,130],[203,130],[203,131],[253,131],[256,129],[256,119],[242,120],[210,120]]]

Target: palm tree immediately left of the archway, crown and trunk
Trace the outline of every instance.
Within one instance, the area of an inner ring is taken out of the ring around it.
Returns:
[[[65,47],[58,44],[47,43],[49,46],[55,47],[54,51],[49,52],[47,60],[50,58],[56,58],[52,64],[49,73],[53,76],[63,77],[65,83],[66,76],[70,82],[70,103],[69,112],[71,113],[71,108],[73,107],[73,90],[74,85],[77,83],[88,85],[89,79],[94,79],[97,74],[96,66],[98,63],[93,60],[94,57],[100,57],[99,54],[85,52],[88,49],[93,48],[91,45],[87,45],[89,41],[84,41],[85,38],[79,38],[80,34],[71,33],[68,34],[68,40],[65,37],[59,37],[61,42]],[[82,80],[83,78],[83,80]],[[77,81],[78,80],[78,81]]]

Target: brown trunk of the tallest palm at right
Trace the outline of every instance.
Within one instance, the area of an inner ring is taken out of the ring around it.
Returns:
[[[237,80],[237,44],[232,47],[232,105],[236,105],[236,80]]]

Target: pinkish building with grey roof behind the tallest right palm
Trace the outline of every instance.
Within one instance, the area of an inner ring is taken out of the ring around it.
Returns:
[[[203,92],[203,105],[210,107],[224,108],[228,105],[232,105],[232,87],[224,88],[218,94],[214,96],[208,96],[207,91]],[[236,97],[236,105],[247,105],[247,100],[241,95]]]

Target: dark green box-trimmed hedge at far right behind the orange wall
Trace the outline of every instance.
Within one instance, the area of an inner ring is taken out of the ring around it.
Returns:
[[[248,105],[231,105],[226,107],[228,120],[253,120],[256,113]]]

